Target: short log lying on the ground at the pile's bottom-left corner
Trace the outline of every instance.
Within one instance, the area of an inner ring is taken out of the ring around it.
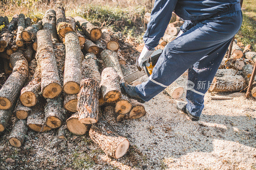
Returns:
[[[27,120],[18,120],[13,128],[9,137],[9,142],[12,146],[19,148],[27,134],[28,127],[26,126]]]

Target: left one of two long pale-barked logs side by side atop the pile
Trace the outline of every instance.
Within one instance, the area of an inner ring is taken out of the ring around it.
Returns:
[[[37,32],[36,60],[41,67],[41,90],[45,98],[55,98],[62,91],[57,63],[53,51],[51,33],[48,30]]]

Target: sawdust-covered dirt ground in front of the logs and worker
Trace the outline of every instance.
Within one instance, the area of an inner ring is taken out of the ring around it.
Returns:
[[[128,59],[143,47],[122,46]],[[66,139],[56,139],[57,129],[29,129],[22,147],[14,148],[7,140],[12,117],[0,134],[0,169],[256,169],[256,100],[244,92],[218,95],[234,99],[211,100],[207,92],[200,120],[192,122],[177,110],[178,100],[161,92],[145,103],[146,116],[113,124],[130,142],[120,159],[106,156],[88,134],[68,130]]]

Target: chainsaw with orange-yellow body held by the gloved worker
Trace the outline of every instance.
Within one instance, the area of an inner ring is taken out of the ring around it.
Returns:
[[[141,76],[146,75],[149,77],[151,74],[152,74],[152,71],[153,71],[153,68],[155,67],[157,61],[158,61],[158,58],[160,57],[160,55],[162,54],[163,50],[162,49],[158,49],[156,51],[154,51],[152,53],[152,55],[149,57],[149,61],[148,63],[150,64],[148,67],[146,66],[146,62],[142,63],[142,66],[143,66],[143,70],[144,71],[141,71],[142,69],[140,68],[140,65],[139,65],[139,62],[138,62],[138,59],[139,59],[139,56],[136,58],[136,66],[137,66],[137,71],[127,75],[124,79],[128,82],[128,83],[131,83],[132,81],[134,80],[137,80],[138,78],[140,78]]]

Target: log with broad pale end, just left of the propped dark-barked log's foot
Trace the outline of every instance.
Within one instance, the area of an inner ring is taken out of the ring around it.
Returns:
[[[77,135],[84,135],[86,132],[90,130],[91,124],[81,123],[78,121],[78,118],[78,113],[75,113],[72,116],[70,116],[66,121],[67,128],[71,133]]]

